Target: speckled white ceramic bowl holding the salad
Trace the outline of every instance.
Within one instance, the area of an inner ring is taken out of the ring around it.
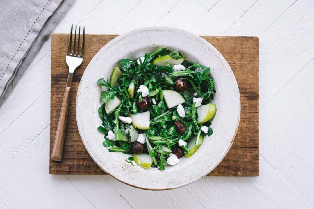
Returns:
[[[214,134],[205,137],[197,152],[188,159],[182,157],[179,164],[165,166],[162,171],[157,168],[146,170],[127,163],[125,159],[129,155],[108,152],[102,146],[104,134],[97,130],[101,124],[97,109],[101,106],[102,87],[96,82],[99,78],[110,78],[114,67],[119,65],[122,58],[135,60],[165,46],[183,52],[189,61],[211,68],[217,91],[212,102],[217,105],[211,126]],[[227,61],[206,40],[180,29],[143,28],[116,37],[90,61],[78,87],[76,118],[87,151],[107,174],[142,189],[174,189],[206,176],[225,157],[238,129],[240,94]]]

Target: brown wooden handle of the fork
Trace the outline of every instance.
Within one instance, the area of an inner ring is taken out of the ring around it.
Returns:
[[[70,89],[71,87],[66,86],[64,91],[64,97],[61,106],[61,112],[59,117],[59,122],[56,131],[55,141],[53,143],[51,159],[55,161],[62,160],[62,152],[64,145],[64,135],[67,127],[68,120],[68,110],[69,110],[69,102],[70,102]]]

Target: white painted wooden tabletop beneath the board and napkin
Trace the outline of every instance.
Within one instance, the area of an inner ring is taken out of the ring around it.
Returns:
[[[50,39],[0,108],[0,208],[314,208],[314,0],[78,0],[70,24],[121,34],[171,26],[260,40],[260,176],[143,191],[110,176],[49,175]],[[140,177],[139,177],[140,178]]]

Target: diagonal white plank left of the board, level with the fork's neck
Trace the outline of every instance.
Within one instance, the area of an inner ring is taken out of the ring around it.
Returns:
[[[20,79],[0,106],[0,134],[50,87],[50,55],[45,55]]]

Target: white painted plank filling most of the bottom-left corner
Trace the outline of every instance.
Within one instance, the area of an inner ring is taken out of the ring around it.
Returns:
[[[8,196],[7,200],[12,202],[11,205],[19,208],[56,208],[57,204],[34,185],[3,149],[0,149],[0,159],[0,188]]]

